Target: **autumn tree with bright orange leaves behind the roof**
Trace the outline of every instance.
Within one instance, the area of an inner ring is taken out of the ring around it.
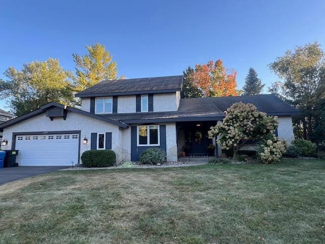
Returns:
[[[202,91],[203,97],[237,96],[239,94],[236,89],[236,77],[237,72],[226,70],[221,59],[215,63],[210,60],[207,64],[196,65],[195,69],[187,74],[184,86],[197,87]],[[185,98],[193,97],[186,95],[184,93]]]

